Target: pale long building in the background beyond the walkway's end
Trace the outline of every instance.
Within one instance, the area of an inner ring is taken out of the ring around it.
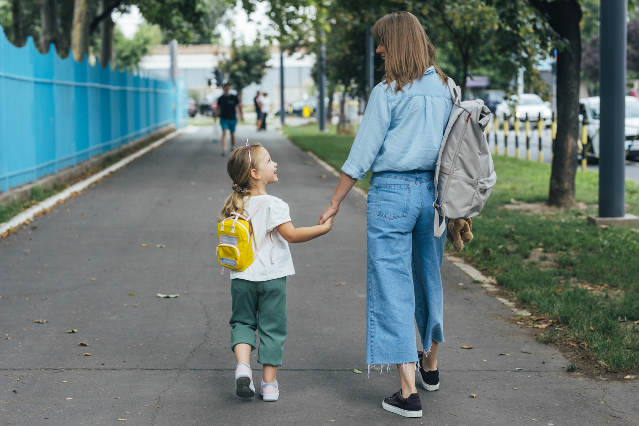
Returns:
[[[229,52],[229,47],[219,45],[180,45],[178,47],[178,75],[187,81],[189,90],[201,91],[206,97],[215,89],[213,70],[217,68],[220,58]],[[242,104],[250,107],[258,90],[268,93],[273,111],[279,109],[280,100],[280,58],[279,47],[273,46],[269,68],[261,84],[251,84],[242,91]],[[284,100],[287,104],[314,95],[314,82],[311,70],[315,56],[299,52],[284,56]],[[141,70],[151,76],[166,78],[171,68],[169,46],[158,45],[151,49],[151,54],[142,58]],[[211,85],[211,86],[209,86]]]

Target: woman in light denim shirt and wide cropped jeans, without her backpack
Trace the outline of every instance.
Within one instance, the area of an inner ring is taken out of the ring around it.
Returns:
[[[439,388],[437,346],[443,342],[442,266],[445,238],[433,234],[435,163],[452,100],[435,47],[408,12],[376,22],[373,36],[385,76],[374,87],[342,176],[318,224],[371,169],[367,201],[366,362],[397,364],[401,392],[382,407],[422,416],[415,388]],[[413,315],[424,347],[417,352]],[[415,364],[417,363],[415,368]]]

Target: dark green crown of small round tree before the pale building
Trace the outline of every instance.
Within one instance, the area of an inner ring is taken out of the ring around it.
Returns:
[[[259,83],[266,72],[266,62],[271,58],[268,46],[261,46],[259,37],[252,45],[231,45],[231,54],[220,63],[226,82],[238,91],[251,83]]]

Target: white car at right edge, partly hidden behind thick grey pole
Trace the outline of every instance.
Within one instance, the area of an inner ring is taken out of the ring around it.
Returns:
[[[599,96],[581,98],[579,112],[592,142],[589,151],[599,156]],[[634,96],[626,96],[626,152],[628,156],[639,155],[639,99]]]

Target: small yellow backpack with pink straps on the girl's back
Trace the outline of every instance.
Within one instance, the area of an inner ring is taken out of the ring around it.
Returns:
[[[258,212],[259,208],[261,208],[269,198],[270,196],[266,195],[248,217],[243,217],[240,213],[234,211],[230,217],[222,220],[222,222],[217,225],[219,241],[216,250],[217,261],[220,262],[224,268],[235,271],[245,270],[252,264],[253,259],[258,257],[259,250],[261,250],[269,237],[271,243],[273,242],[272,235],[270,235],[269,232],[257,250],[253,252],[249,226],[250,218]],[[222,269],[222,275],[224,275],[224,269]]]

